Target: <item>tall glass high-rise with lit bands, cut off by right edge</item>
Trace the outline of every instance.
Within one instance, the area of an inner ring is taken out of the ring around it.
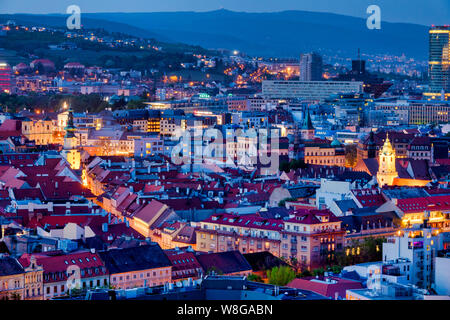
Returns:
[[[428,99],[450,100],[450,26],[433,26],[429,31]]]

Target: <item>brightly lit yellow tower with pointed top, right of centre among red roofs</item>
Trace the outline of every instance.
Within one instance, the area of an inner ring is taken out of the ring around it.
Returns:
[[[389,141],[389,135],[386,133],[386,140],[378,155],[378,185],[380,187],[384,185],[392,186],[394,178],[397,177],[398,173],[395,169],[395,150]]]

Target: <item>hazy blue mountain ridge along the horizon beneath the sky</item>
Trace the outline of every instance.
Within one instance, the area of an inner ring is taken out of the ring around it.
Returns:
[[[63,15],[0,15],[0,21],[34,21],[64,26]],[[3,18],[3,19],[2,19]],[[208,49],[240,50],[252,55],[297,57],[301,52],[354,57],[358,48],[376,54],[405,54],[426,59],[428,28],[382,22],[369,30],[366,20],[331,13],[283,11],[85,13],[86,28],[104,28],[165,42],[182,42]]]

